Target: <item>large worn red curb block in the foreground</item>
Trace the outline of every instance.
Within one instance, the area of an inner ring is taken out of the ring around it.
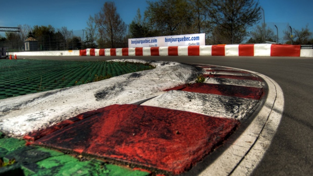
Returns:
[[[34,144],[179,174],[221,145],[239,124],[160,107],[112,105]]]

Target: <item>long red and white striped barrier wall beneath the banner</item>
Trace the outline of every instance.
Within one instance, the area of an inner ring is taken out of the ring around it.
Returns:
[[[140,55],[221,55],[221,56],[313,56],[302,52],[300,45],[288,44],[235,44],[204,46],[164,46],[111,49],[83,49],[79,55],[140,56]]]

